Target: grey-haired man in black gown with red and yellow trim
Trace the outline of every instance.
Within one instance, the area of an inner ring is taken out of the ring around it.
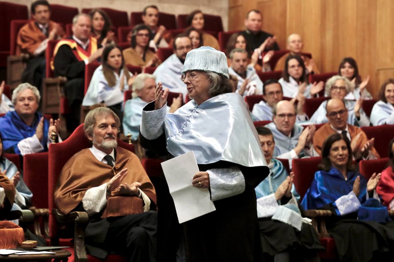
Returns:
[[[67,114],[69,132],[79,125],[80,110],[84,99],[85,65],[97,62],[103,48],[90,36],[91,17],[78,14],[72,19],[72,36],[58,42],[54,50],[54,74],[67,77],[64,92],[71,114]]]

